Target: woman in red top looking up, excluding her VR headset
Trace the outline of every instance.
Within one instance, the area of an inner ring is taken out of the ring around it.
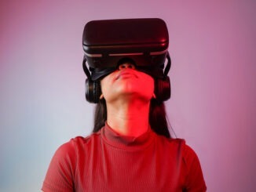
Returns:
[[[43,191],[206,191],[195,152],[172,139],[155,77],[123,60],[100,80],[93,134],[62,145]]]

